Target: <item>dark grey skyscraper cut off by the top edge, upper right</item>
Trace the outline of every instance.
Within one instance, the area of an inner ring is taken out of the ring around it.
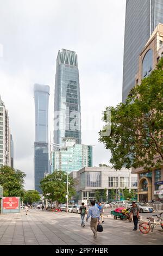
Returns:
[[[139,54],[158,23],[163,23],[163,0],[127,0],[124,35],[124,102],[135,86]]]

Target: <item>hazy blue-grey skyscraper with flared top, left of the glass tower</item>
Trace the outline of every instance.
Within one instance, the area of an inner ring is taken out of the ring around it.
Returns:
[[[48,102],[49,86],[34,85],[35,143],[34,143],[34,187],[41,193],[40,180],[49,170],[48,157]]]

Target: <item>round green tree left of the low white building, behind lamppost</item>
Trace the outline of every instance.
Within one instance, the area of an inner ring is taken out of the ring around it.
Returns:
[[[68,198],[75,194],[73,179],[68,175]],[[67,173],[62,170],[55,170],[40,181],[43,196],[52,202],[64,203],[67,194]]]

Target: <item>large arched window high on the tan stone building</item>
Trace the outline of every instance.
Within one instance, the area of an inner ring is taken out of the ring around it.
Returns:
[[[153,69],[153,50],[150,49],[142,61],[142,79],[149,76]]]

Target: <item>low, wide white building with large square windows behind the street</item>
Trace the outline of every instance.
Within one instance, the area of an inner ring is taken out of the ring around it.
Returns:
[[[137,192],[137,174],[131,174],[131,169],[123,167],[121,170],[115,170],[111,167],[84,167],[78,172],[70,173],[74,179],[74,184],[79,200],[95,200],[96,190],[107,190],[108,200],[111,193],[115,193],[115,200],[123,198],[123,190]]]

